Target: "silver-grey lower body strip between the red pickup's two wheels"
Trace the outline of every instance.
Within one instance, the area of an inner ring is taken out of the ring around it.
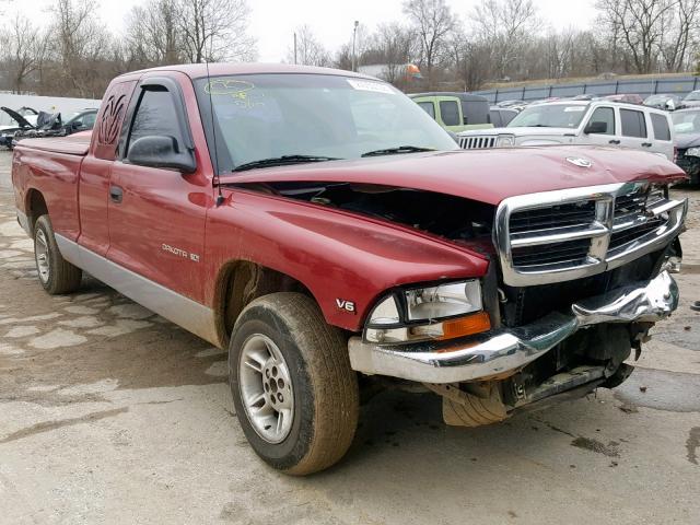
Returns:
[[[55,236],[58,249],[69,262],[167,320],[214,346],[221,345],[213,310],[128,270],[62,235]]]

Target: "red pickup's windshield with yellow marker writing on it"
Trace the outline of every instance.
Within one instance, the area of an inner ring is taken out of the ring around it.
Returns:
[[[420,106],[384,82],[246,74],[199,79],[195,86],[209,128],[211,95],[220,172],[289,155],[359,159],[398,147],[458,149]]]

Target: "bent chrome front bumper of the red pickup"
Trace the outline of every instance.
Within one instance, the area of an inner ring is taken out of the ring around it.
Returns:
[[[421,383],[460,383],[512,375],[576,330],[602,323],[657,322],[678,307],[678,285],[667,271],[571,305],[536,323],[477,337],[404,346],[348,342],[352,369]]]

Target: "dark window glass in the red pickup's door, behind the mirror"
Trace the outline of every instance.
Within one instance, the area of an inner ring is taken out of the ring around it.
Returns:
[[[150,85],[142,91],[129,131],[127,152],[138,139],[151,136],[175,137],[183,143],[173,96],[163,86]]]

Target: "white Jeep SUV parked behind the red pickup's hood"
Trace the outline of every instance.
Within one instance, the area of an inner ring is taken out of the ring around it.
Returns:
[[[673,161],[667,112],[607,101],[561,101],[528,106],[504,128],[457,133],[464,149],[595,144],[649,151]]]

